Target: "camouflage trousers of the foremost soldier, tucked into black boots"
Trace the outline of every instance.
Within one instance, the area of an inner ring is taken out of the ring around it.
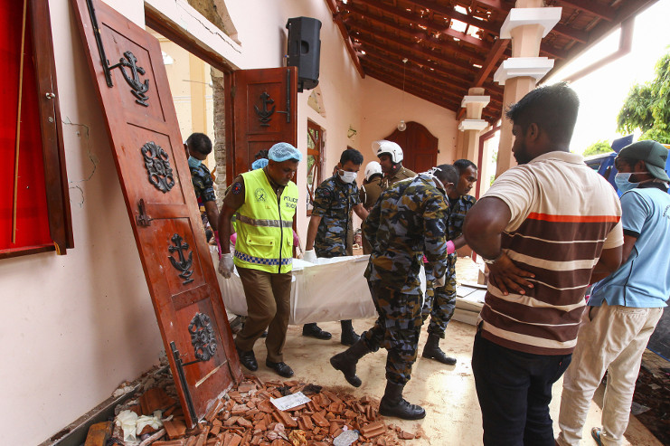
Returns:
[[[417,360],[421,330],[421,295],[404,294],[383,286],[379,280],[368,282],[379,318],[365,331],[362,339],[371,351],[386,348],[386,379],[394,384],[410,381],[411,366]]]

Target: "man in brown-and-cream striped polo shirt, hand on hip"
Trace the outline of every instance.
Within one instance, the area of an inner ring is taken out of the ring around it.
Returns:
[[[584,290],[621,261],[618,196],[570,153],[578,109],[564,83],[508,109],[520,166],[466,217],[467,244],[489,268],[472,353],[485,445],[554,445],[552,384],[570,364]]]

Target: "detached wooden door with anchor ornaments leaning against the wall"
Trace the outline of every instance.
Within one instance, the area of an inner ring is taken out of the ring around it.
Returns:
[[[242,374],[202,236],[161,49],[156,38],[99,0],[72,2],[158,327],[193,426]]]

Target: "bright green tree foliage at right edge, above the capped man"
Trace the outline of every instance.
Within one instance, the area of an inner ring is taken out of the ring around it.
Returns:
[[[618,112],[618,131],[642,130],[640,139],[670,144],[670,52],[656,62],[656,78],[636,84]]]

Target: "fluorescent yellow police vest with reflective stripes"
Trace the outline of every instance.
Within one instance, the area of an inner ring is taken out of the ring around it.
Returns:
[[[263,169],[242,174],[244,204],[236,214],[238,267],[272,273],[289,272],[293,263],[293,216],[297,185],[289,182],[278,197]]]

